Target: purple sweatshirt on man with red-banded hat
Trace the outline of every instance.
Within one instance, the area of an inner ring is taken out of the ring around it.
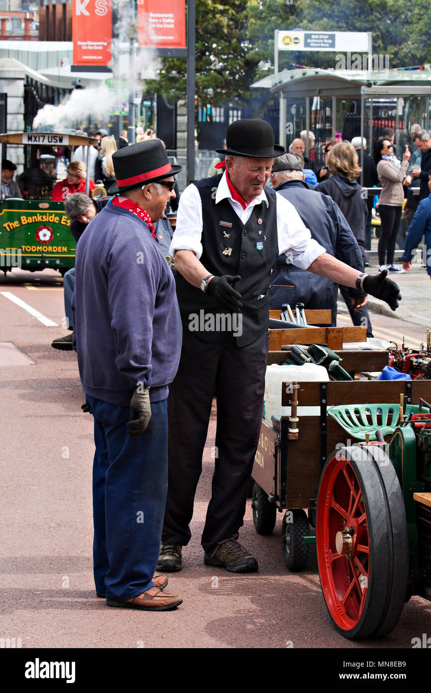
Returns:
[[[128,406],[138,383],[167,397],[181,353],[175,282],[145,222],[107,204],[76,247],[73,341],[82,389]]]

